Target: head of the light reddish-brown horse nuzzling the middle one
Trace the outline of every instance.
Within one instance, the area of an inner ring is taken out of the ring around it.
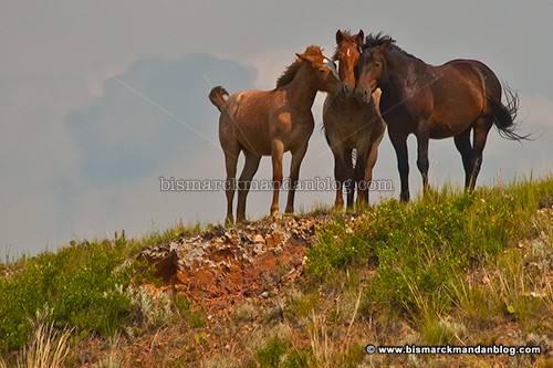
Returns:
[[[334,62],[323,55],[317,46],[309,46],[304,53],[296,54],[302,61],[309,63],[317,82],[317,90],[334,93],[342,82]]]

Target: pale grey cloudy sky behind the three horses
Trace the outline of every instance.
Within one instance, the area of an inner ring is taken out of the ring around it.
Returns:
[[[218,111],[207,95],[271,90],[307,45],[331,56],[338,29],[384,31],[439,65],[477,59],[520,96],[523,144],[492,129],[478,185],[552,172],[553,2],[491,1],[2,1],[0,3],[0,259],[55,251],[71,240],[142,236],[225,218],[222,191],[161,191],[159,178],[223,179]],[[332,178],[322,103],[301,179]],[[420,189],[409,143],[411,197]],[[452,139],[431,140],[430,185],[461,185]],[[290,155],[285,155],[285,176]],[[255,179],[270,179],[264,158]],[[399,187],[380,144],[375,179]],[[371,201],[397,198],[376,191]],[[252,192],[247,213],[269,213]],[[296,194],[296,210],[332,204],[332,191]],[[281,208],[285,192],[281,194]]]

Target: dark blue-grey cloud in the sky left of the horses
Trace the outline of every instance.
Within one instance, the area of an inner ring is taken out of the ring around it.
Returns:
[[[251,70],[208,55],[143,59],[109,77],[104,95],[65,122],[81,150],[84,182],[136,180],[218,147],[217,122],[207,120],[216,112],[210,83],[232,88],[252,78]]]

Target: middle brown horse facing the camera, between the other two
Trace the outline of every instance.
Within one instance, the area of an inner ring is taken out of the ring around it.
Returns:
[[[373,168],[378,155],[378,144],[386,130],[386,124],[378,112],[379,91],[373,99],[359,102],[354,96],[355,66],[365,43],[363,30],[352,35],[336,32],[336,51],[333,60],[338,61],[342,90],[330,93],[324,101],[323,124],[325,137],[334,155],[334,178],[337,183],[336,209],[344,208],[343,189],[347,196],[347,208],[352,208],[357,189],[357,202],[368,202],[368,186],[373,180]],[[352,154],[355,150],[355,167]]]

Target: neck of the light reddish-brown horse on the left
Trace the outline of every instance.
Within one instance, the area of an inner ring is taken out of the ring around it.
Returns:
[[[289,104],[298,112],[311,114],[311,106],[315,101],[317,86],[313,75],[307,70],[307,65],[302,66],[295,73],[294,78],[289,84],[279,87],[285,91],[289,96]]]

